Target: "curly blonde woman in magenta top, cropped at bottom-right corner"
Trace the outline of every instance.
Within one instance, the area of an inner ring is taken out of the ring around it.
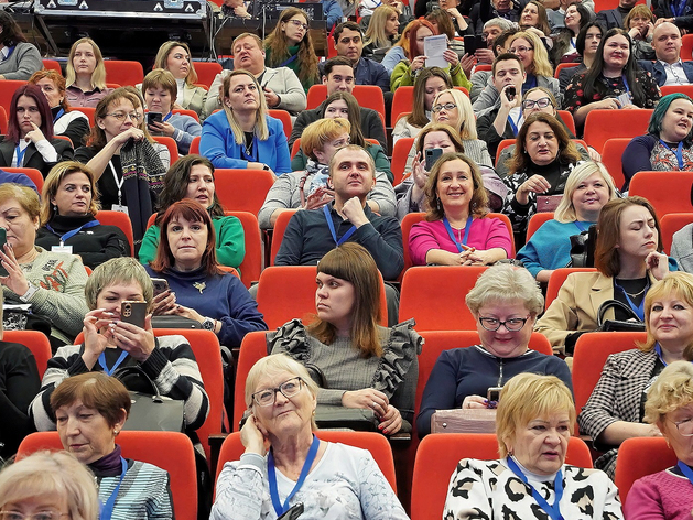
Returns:
[[[656,425],[676,454],[663,472],[636,480],[624,507],[626,518],[687,518],[693,509],[693,365],[673,361],[657,378],[645,403],[645,420]]]

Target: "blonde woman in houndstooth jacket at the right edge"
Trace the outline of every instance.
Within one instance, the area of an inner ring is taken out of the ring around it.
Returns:
[[[616,469],[618,446],[626,438],[662,434],[651,413],[645,422],[643,401],[654,390],[652,382],[659,381],[669,364],[693,360],[691,274],[669,273],[651,285],[645,296],[645,326],[648,335],[643,344],[634,344],[631,350],[607,358],[599,382],[577,416],[581,432],[591,435],[595,448],[604,453],[595,461],[595,467],[610,477]]]

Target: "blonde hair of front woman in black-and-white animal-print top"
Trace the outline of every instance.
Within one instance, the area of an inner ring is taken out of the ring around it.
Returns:
[[[569,431],[572,435],[576,416],[575,403],[573,394],[557,377],[524,372],[511,378],[500,392],[496,414],[496,437],[500,456],[508,455],[508,443],[515,442],[518,431],[530,421],[560,412],[567,413]]]

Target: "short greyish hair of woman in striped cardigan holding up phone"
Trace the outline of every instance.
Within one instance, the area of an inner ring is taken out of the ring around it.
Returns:
[[[97,267],[87,279],[84,293],[89,311],[97,308],[96,300],[99,293],[115,283],[137,282],[142,288],[142,295],[147,307],[151,308],[154,299],[152,279],[149,278],[142,264],[132,257],[111,258]]]

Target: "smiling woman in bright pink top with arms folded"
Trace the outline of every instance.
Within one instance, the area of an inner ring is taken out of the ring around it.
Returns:
[[[424,186],[426,218],[412,226],[414,266],[488,266],[512,256],[512,239],[499,218],[489,218],[478,166],[464,153],[447,152]]]

